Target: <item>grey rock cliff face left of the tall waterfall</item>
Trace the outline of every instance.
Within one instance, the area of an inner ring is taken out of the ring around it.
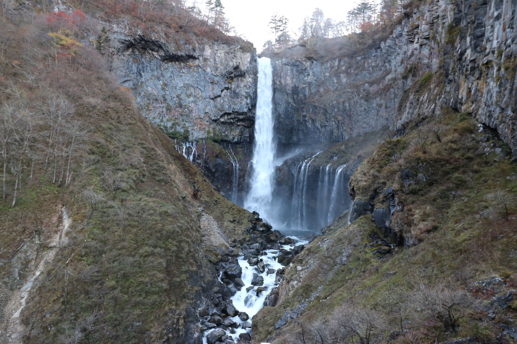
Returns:
[[[251,43],[181,35],[171,41],[133,31],[121,26],[112,34],[120,44],[118,77],[147,119],[178,139],[252,141],[257,67]]]

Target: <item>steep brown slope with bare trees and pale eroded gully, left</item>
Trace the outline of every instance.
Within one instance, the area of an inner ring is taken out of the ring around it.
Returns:
[[[248,213],[142,116],[87,44],[94,17],[8,14],[0,342],[200,342],[215,248],[244,235]]]

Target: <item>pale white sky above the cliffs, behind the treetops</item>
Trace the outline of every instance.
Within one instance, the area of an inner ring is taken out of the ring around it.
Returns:
[[[354,7],[352,0],[221,0],[225,17],[235,26],[242,38],[251,41],[257,53],[268,39],[273,40],[268,22],[271,15],[278,13],[289,20],[290,29],[298,31],[303,18],[310,17],[316,7],[321,8],[325,18],[340,21]],[[196,0],[197,6],[204,7],[205,0]],[[295,37],[294,35],[292,35]]]

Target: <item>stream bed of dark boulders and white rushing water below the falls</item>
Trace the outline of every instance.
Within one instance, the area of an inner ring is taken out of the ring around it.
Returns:
[[[257,212],[248,221],[247,236],[218,249],[221,257],[214,264],[220,288],[199,310],[204,343],[250,340],[252,317],[263,306],[276,305],[285,266],[307,243],[273,231]]]

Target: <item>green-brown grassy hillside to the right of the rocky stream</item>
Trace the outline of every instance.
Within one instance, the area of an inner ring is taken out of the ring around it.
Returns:
[[[351,188],[356,201],[379,209],[389,206],[392,187],[392,233],[386,237],[371,214],[333,223],[286,269],[283,298],[256,316],[254,339],[494,342],[515,316],[507,292],[517,285],[517,166],[509,152],[489,128],[480,133],[452,110],[380,144]],[[444,317],[443,300],[456,321]],[[293,312],[301,315],[275,328]]]

